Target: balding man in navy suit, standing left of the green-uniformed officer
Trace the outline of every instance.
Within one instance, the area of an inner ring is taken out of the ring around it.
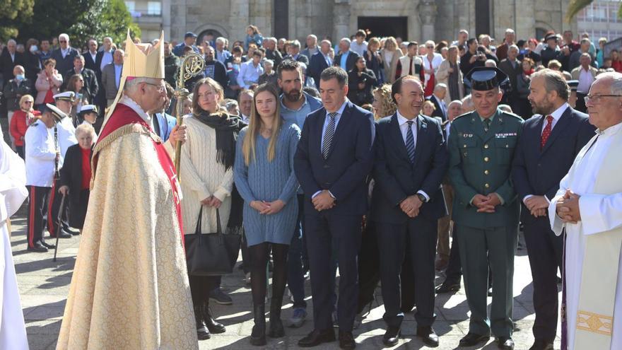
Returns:
[[[415,76],[393,83],[397,112],[377,122],[375,180],[371,219],[379,231],[380,279],[387,332],[383,342],[395,346],[404,313],[400,310],[401,264],[411,255],[417,301],[417,335],[438,346],[432,324],[434,313],[434,259],[437,222],[447,215],[440,184],[449,158],[440,122],[420,114],[423,88]],[[409,247],[406,247],[406,238]]]

